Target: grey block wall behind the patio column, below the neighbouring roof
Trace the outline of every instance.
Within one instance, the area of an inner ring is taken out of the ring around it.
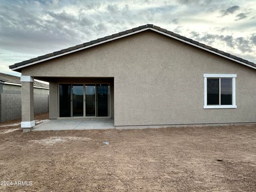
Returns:
[[[2,89],[1,89],[2,86]],[[21,86],[1,84],[0,122],[21,118]],[[34,88],[34,113],[49,111],[49,90]]]

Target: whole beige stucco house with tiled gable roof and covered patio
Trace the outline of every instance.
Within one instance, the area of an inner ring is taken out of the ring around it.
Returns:
[[[256,65],[144,25],[10,66],[21,73],[22,127],[34,78],[50,82],[50,118],[114,118],[116,128],[256,122]]]

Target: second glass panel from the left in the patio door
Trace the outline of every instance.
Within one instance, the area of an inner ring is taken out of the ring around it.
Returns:
[[[73,117],[84,116],[84,85],[73,85]]]

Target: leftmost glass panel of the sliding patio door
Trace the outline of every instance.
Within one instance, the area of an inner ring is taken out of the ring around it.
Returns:
[[[59,85],[60,117],[71,117],[71,84]]]

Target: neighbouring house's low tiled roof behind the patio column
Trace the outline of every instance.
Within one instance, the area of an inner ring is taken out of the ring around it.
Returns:
[[[10,85],[21,85],[20,77],[0,73],[0,83],[10,84]],[[49,85],[41,82],[34,81],[34,87],[49,89]]]

